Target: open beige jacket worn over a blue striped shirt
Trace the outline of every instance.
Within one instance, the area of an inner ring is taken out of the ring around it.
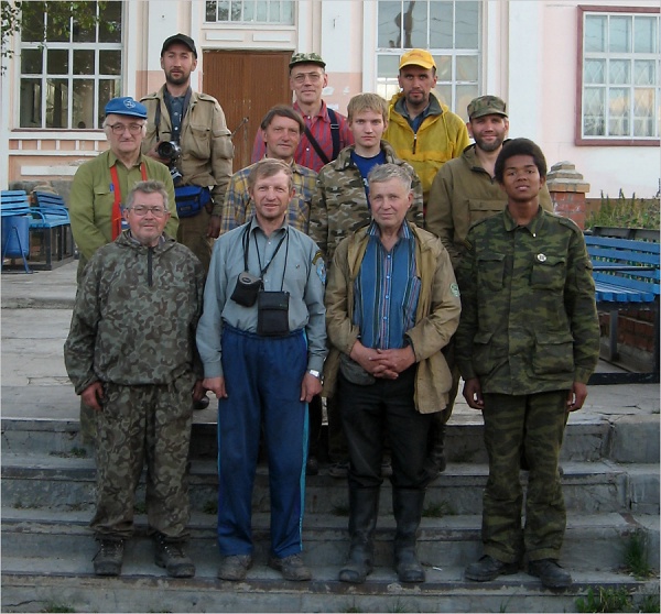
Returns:
[[[447,405],[452,375],[441,352],[459,324],[458,286],[449,256],[441,241],[410,223],[415,235],[415,266],[421,278],[415,326],[407,331],[418,372],[415,408],[421,414],[440,412]],[[349,353],[359,336],[353,324],[354,281],[368,243],[368,227],[344,239],[334,255],[326,286],[326,328],[330,352],[324,365],[324,395],[333,396],[340,352]]]

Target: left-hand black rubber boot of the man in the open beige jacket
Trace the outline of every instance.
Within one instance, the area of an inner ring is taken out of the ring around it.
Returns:
[[[371,573],[375,527],[379,514],[379,489],[349,487],[349,556],[339,572],[340,582],[361,584]]]

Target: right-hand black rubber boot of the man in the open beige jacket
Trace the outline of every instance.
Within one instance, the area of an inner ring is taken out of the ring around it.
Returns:
[[[397,522],[394,570],[400,582],[424,582],[424,570],[415,555],[415,539],[422,517],[424,491],[392,490],[392,511]]]

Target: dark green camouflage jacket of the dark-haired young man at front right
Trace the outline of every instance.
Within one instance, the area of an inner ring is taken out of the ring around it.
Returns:
[[[473,226],[466,243],[455,337],[464,379],[509,395],[587,383],[599,357],[599,322],[581,229],[541,208],[520,227],[505,209]]]

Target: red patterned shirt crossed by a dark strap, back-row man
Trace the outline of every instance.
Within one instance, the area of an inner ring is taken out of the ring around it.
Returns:
[[[328,117],[328,108],[326,103],[322,100],[322,108],[319,112],[314,116],[305,116],[301,112],[301,108],[297,102],[294,102],[294,109],[299,111],[303,116],[303,120],[305,121],[305,125],[307,130],[315,138],[316,142],[322,147],[322,151],[328,157],[328,161],[335,160],[333,157],[333,135],[330,134],[330,118]],[[337,153],[339,153],[345,147],[354,144],[354,135],[349,130],[349,124],[347,122],[347,118],[343,114],[335,111],[335,116],[337,117],[337,123],[339,124],[339,149]],[[264,144],[264,140],[262,138],[261,130],[257,131],[254,136],[254,144],[252,146],[252,162],[257,162],[264,157],[264,153],[267,152],[267,145]],[[316,173],[318,173],[326,164],[315,152],[314,147],[307,140],[305,134],[301,135],[301,142],[299,143],[299,147],[296,149],[296,153],[294,154],[294,161],[296,164],[301,166],[305,166],[306,168],[312,168]]]

